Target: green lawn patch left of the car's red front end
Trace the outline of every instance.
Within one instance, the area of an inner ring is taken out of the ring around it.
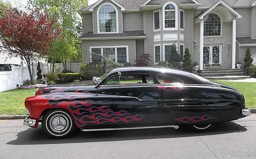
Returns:
[[[0,93],[0,115],[25,115],[25,98],[33,96],[37,89],[14,89]]]

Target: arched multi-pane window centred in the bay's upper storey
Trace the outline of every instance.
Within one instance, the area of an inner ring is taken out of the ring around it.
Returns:
[[[176,29],[177,28],[177,6],[173,3],[164,5],[164,28]]]

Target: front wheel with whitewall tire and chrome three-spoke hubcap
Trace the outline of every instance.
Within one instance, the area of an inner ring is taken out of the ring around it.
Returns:
[[[75,123],[69,112],[50,110],[42,117],[42,129],[51,137],[62,138],[74,132]]]

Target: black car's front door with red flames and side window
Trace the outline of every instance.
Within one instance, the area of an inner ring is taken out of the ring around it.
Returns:
[[[132,126],[160,122],[160,97],[150,74],[114,75],[97,90],[98,126]]]

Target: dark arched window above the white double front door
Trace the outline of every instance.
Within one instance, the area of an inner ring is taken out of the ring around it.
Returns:
[[[210,13],[204,21],[204,36],[220,36],[221,19],[217,14]]]

